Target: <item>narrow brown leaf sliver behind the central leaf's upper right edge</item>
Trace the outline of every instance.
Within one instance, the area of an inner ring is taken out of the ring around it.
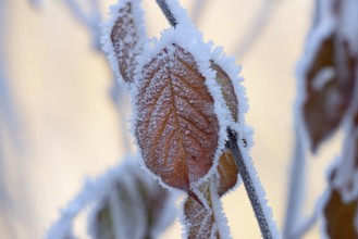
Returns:
[[[233,116],[233,120],[237,122],[238,120],[238,102],[235,93],[233,83],[229,75],[212,60],[210,61],[211,68],[217,72],[217,83],[221,88],[221,93],[225,100],[225,103]]]

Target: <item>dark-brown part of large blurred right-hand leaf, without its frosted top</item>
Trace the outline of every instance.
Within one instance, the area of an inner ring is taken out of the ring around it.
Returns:
[[[353,97],[356,59],[335,34],[323,39],[305,73],[304,120],[316,151],[340,125]]]

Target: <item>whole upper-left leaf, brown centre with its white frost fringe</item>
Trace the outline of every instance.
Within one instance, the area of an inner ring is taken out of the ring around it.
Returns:
[[[118,77],[133,83],[136,56],[145,41],[144,13],[141,0],[125,0],[112,8],[112,18],[107,24],[102,38],[103,49],[109,53]]]

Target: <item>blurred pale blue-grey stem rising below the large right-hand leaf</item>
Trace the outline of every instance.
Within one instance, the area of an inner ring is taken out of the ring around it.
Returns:
[[[298,130],[295,131],[295,152],[291,165],[291,178],[288,185],[288,202],[286,205],[285,224],[283,229],[284,238],[293,238],[295,222],[299,219],[300,202],[303,199],[305,183],[305,153]]]

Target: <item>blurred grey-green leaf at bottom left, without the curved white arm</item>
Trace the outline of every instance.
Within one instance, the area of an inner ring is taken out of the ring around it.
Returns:
[[[125,172],[91,213],[89,226],[95,239],[156,238],[172,223],[168,210],[174,205],[169,191],[139,167]]]

